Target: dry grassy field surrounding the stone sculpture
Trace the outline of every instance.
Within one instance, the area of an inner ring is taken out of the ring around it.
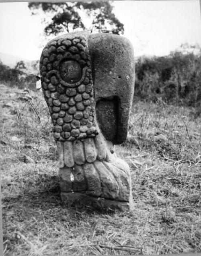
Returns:
[[[201,118],[136,102],[117,154],[131,168],[133,212],[66,207],[45,101],[0,86],[5,256],[201,252]],[[119,246],[119,247],[118,247]],[[117,249],[121,250],[117,250]]]

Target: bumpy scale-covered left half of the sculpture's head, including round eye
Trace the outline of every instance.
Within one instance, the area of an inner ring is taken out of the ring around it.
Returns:
[[[95,101],[86,35],[67,34],[49,42],[41,55],[40,71],[44,97],[52,113],[53,124],[62,127],[62,130],[55,129],[55,140],[73,141],[78,136],[80,139],[91,136],[91,126],[94,126],[95,136]],[[90,111],[88,106],[91,107]],[[86,125],[87,121],[78,124],[74,119],[81,120],[88,111],[91,115],[88,122],[92,125],[88,123],[88,130],[79,130],[80,125]],[[66,127],[65,124],[69,123],[71,128],[68,132],[71,136],[65,133],[65,128],[63,129]]]

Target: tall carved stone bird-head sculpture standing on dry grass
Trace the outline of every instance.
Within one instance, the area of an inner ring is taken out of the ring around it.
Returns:
[[[135,76],[131,44],[112,34],[65,34],[43,49],[40,73],[62,199],[129,210],[129,166],[114,145],[127,137]]]

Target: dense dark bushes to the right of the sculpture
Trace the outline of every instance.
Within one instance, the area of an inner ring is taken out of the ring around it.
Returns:
[[[201,105],[201,51],[171,52],[166,57],[140,58],[136,63],[135,95],[141,99]]]

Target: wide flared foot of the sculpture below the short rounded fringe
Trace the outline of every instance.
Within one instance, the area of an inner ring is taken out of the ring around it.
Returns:
[[[100,206],[109,208],[113,205],[113,208],[129,210],[132,205],[129,166],[123,161],[120,166],[121,169],[112,163],[96,160],[84,165],[76,164],[74,168],[61,168],[59,176],[63,200],[72,200],[71,203],[80,200],[85,205],[91,204],[91,201],[98,203],[108,200],[110,205],[108,202]],[[73,197],[72,192],[76,197]],[[83,196],[89,201],[82,201]]]

